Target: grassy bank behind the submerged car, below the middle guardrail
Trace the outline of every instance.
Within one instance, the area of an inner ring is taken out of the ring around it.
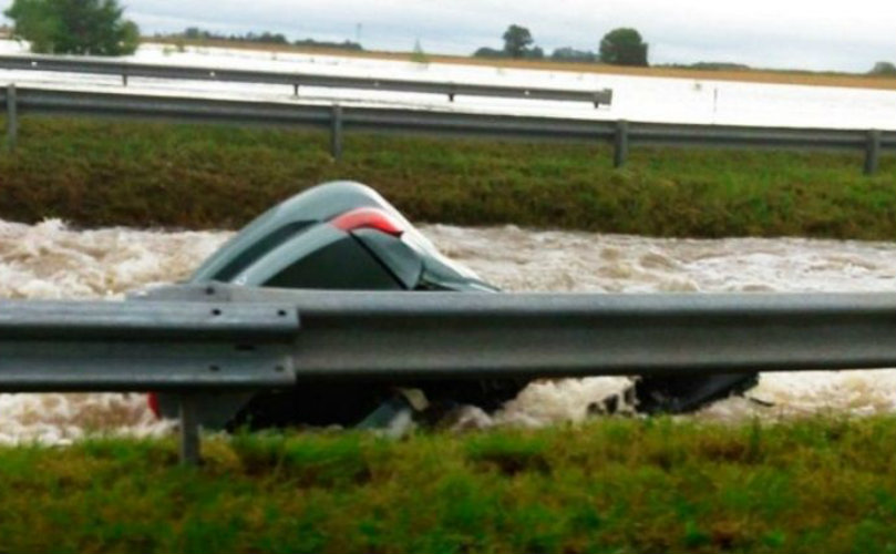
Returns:
[[[0,153],[0,217],[83,226],[236,228],[317,183],[374,186],[412,219],[653,236],[896,238],[896,158],[632,150],[230,126],[25,117]]]

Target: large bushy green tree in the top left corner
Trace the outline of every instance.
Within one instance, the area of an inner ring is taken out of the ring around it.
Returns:
[[[3,14],[32,52],[124,55],[137,49],[140,29],[123,12],[117,0],[13,0]]]

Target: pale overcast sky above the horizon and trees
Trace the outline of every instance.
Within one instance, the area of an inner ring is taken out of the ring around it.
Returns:
[[[430,53],[501,48],[511,23],[546,53],[596,50],[617,27],[634,27],[651,63],[725,61],[764,68],[867,71],[896,63],[894,0],[120,0],[144,34],[200,27],[272,31],[288,38],[360,39],[367,49]],[[0,0],[6,9],[11,0]]]

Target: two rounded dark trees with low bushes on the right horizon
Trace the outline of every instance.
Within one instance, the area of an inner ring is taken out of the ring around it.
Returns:
[[[473,53],[474,58],[512,58],[512,59],[545,59],[544,50],[534,45],[532,31],[525,27],[512,24],[502,35],[504,48],[481,48]],[[576,50],[564,47],[554,50],[552,60],[565,62],[604,62],[615,65],[647,66],[648,45],[641,34],[631,28],[619,28],[609,31],[600,40],[597,52],[590,50]]]

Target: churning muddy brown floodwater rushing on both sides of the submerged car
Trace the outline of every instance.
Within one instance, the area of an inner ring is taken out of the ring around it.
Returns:
[[[680,240],[516,227],[422,226],[445,254],[515,291],[886,291],[896,290],[896,244],[807,239]],[[60,222],[0,222],[0,296],[121,298],[183,279],[229,233],[133,229],[79,232]],[[536,383],[473,425],[580,420],[620,391],[620,378]],[[717,402],[696,417],[741,419],[815,412],[896,411],[896,370],[766,373],[749,399]],[[0,394],[0,442],[68,442],[89,432],[158,434],[142,394]]]

